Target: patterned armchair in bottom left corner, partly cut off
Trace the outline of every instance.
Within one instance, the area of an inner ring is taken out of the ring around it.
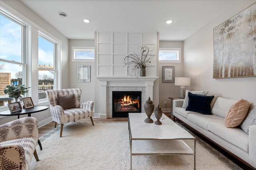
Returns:
[[[28,170],[34,154],[38,161],[38,122],[24,117],[0,125],[0,169]]]

